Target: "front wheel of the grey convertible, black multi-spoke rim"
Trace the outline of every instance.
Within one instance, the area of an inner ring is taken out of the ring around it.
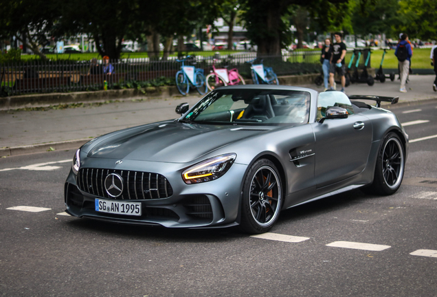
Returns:
[[[282,181],[275,164],[259,159],[247,173],[242,192],[240,230],[250,234],[269,231],[282,206]]]

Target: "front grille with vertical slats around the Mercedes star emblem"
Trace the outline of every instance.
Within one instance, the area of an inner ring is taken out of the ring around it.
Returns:
[[[104,179],[117,173],[123,179],[122,195],[113,198],[104,188]],[[79,170],[77,184],[80,190],[109,199],[159,199],[173,195],[173,189],[166,177],[157,173],[130,170],[82,168]]]

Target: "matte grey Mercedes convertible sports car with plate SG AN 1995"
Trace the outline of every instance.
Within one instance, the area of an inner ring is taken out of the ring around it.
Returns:
[[[179,104],[177,120],[83,145],[65,182],[65,206],[75,217],[262,233],[280,210],[339,192],[390,195],[401,186],[408,135],[381,101],[397,100],[219,88],[194,107]]]

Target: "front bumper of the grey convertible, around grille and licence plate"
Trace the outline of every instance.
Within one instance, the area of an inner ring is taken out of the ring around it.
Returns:
[[[128,162],[124,163],[124,170],[127,170],[129,164]],[[138,163],[135,162],[134,170],[142,167],[147,168],[148,171],[159,172],[156,170],[158,164]],[[92,164],[93,168],[102,168],[102,166],[96,165],[98,164]],[[142,199],[143,197],[133,197],[134,195],[132,195],[122,200],[141,203],[142,215],[138,217],[97,212],[95,210],[96,198],[107,200],[112,198],[106,194],[102,195],[101,190],[96,190],[94,194],[84,191],[83,185],[80,184],[82,181],[79,181],[78,184],[77,175],[71,170],[65,182],[66,211],[74,217],[87,217],[117,223],[162,225],[168,228],[213,228],[238,224],[240,193],[247,166],[233,164],[232,168],[219,179],[190,185],[183,182],[181,178],[183,168],[176,168],[180,166],[181,164],[166,164],[166,170],[160,172],[172,186],[170,197]]]

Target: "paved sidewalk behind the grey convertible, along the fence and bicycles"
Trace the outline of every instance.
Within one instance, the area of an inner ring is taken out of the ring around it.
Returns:
[[[432,89],[434,78],[410,76],[405,94],[399,92],[397,76],[394,82],[390,79],[385,83],[375,82],[372,87],[365,83],[352,84],[346,88],[346,94],[399,96],[399,104],[421,104],[423,100],[437,99],[437,93]],[[314,84],[300,87],[323,91],[323,86]],[[337,89],[340,88],[337,85]],[[91,138],[111,131],[177,118],[177,104],[188,102],[192,106],[200,98],[197,95],[175,96],[49,111],[0,111],[0,157],[75,149]]]

